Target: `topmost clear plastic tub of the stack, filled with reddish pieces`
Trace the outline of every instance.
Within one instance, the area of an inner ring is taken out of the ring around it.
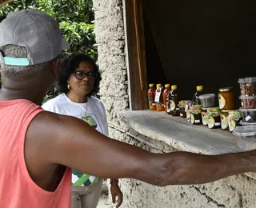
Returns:
[[[241,94],[244,96],[256,96],[256,78],[239,78]]]

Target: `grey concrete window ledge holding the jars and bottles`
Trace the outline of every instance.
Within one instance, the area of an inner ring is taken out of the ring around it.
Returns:
[[[186,118],[172,117],[151,110],[123,111],[121,118],[139,134],[173,146],[176,150],[198,154],[226,154],[242,152],[236,138],[227,130],[210,130],[206,126],[191,125]],[[256,173],[246,174],[256,179]]]

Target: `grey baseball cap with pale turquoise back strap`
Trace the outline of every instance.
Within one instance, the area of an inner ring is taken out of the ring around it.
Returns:
[[[29,66],[49,62],[69,44],[62,38],[58,22],[40,10],[21,10],[7,15],[0,23],[0,62],[11,66]],[[24,46],[27,58],[3,57],[3,46]]]

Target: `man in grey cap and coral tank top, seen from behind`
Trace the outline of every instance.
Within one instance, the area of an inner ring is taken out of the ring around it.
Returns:
[[[156,186],[255,171],[256,151],[152,154],[106,138],[77,118],[43,111],[63,48],[57,22],[38,10],[22,10],[9,14],[0,31],[0,207],[70,207],[70,168]]]

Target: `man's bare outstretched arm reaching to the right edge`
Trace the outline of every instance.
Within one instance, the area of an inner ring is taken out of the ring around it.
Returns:
[[[49,112],[34,118],[28,134],[27,145],[40,146],[40,160],[101,178],[135,178],[167,186],[212,182],[256,170],[256,151],[217,156],[152,154],[107,138],[80,119]]]

